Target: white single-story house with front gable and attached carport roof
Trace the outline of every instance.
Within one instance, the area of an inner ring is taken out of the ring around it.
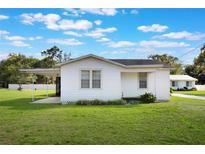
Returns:
[[[56,90],[62,103],[138,97],[145,92],[154,94],[157,100],[170,98],[170,67],[156,60],[106,59],[89,54],[56,68],[21,71],[57,76]]]

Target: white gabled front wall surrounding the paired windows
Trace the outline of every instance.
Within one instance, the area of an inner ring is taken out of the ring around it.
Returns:
[[[81,70],[101,70],[100,89],[82,89]],[[61,102],[81,99],[120,99],[120,67],[94,58],[86,58],[61,67]]]

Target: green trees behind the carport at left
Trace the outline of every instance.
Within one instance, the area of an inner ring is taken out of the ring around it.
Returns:
[[[50,49],[41,52],[45,57],[37,59],[26,57],[23,54],[11,53],[8,58],[0,61],[0,80],[8,83],[27,83],[31,82],[31,76],[21,73],[21,68],[52,68],[56,63],[68,60],[71,54],[63,53],[58,47],[54,46]],[[46,77],[36,75],[36,82],[45,83]],[[50,82],[54,80],[49,79]]]

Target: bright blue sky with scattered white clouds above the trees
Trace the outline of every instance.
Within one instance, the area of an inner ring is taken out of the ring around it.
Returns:
[[[205,9],[1,9],[0,59],[40,58],[57,45],[72,57],[147,58],[171,54],[192,63],[205,43]],[[184,53],[193,50],[190,54]]]

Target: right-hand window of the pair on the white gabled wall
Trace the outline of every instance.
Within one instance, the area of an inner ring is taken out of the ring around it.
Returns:
[[[101,71],[92,71],[92,88],[101,88]]]

